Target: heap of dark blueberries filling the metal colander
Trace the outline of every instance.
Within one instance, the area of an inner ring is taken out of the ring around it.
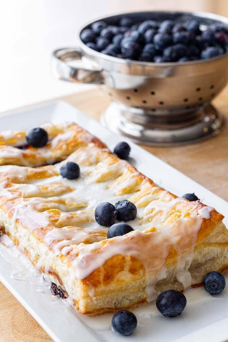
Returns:
[[[196,19],[134,24],[122,17],[117,25],[95,22],[80,37],[93,50],[143,62],[187,62],[228,53],[228,27],[200,25]]]

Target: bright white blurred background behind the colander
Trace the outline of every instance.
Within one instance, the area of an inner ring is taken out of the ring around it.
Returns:
[[[0,112],[91,89],[54,80],[51,52],[75,47],[85,23],[137,10],[207,11],[228,16],[228,0],[2,0]]]

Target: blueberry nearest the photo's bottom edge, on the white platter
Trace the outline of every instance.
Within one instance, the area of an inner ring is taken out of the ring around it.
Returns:
[[[129,336],[137,326],[137,318],[128,310],[116,312],[112,317],[112,329],[123,336]]]

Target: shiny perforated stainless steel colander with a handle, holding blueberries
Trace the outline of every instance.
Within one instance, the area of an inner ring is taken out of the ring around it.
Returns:
[[[204,12],[134,12],[101,20],[112,25],[122,16],[135,23],[197,18],[201,25],[228,25],[228,18]],[[65,81],[102,84],[100,89],[112,103],[101,122],[111,131],[161,146],[192,143],[221,131],[224,118],[210,102],[227,84],[228,54],[185,63],[129,61],[88,48],[80,32],[78,48],[53,52],[53,72]],[[80,65],[71,64],[76,60]]]

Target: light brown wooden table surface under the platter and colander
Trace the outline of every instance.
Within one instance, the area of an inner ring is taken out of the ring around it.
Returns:
[[[72,94],[62,99],[97,120],[110,103],[98,89]],[[214,105],[228,120],[228,87],[217,96]],[[228,200],[228,124],[221,134],[198,144],[144,148]],[[190,191],[193,192],[194,189],[189,189]],[[0,341],[52,341],[1,283],[0,322]]]

